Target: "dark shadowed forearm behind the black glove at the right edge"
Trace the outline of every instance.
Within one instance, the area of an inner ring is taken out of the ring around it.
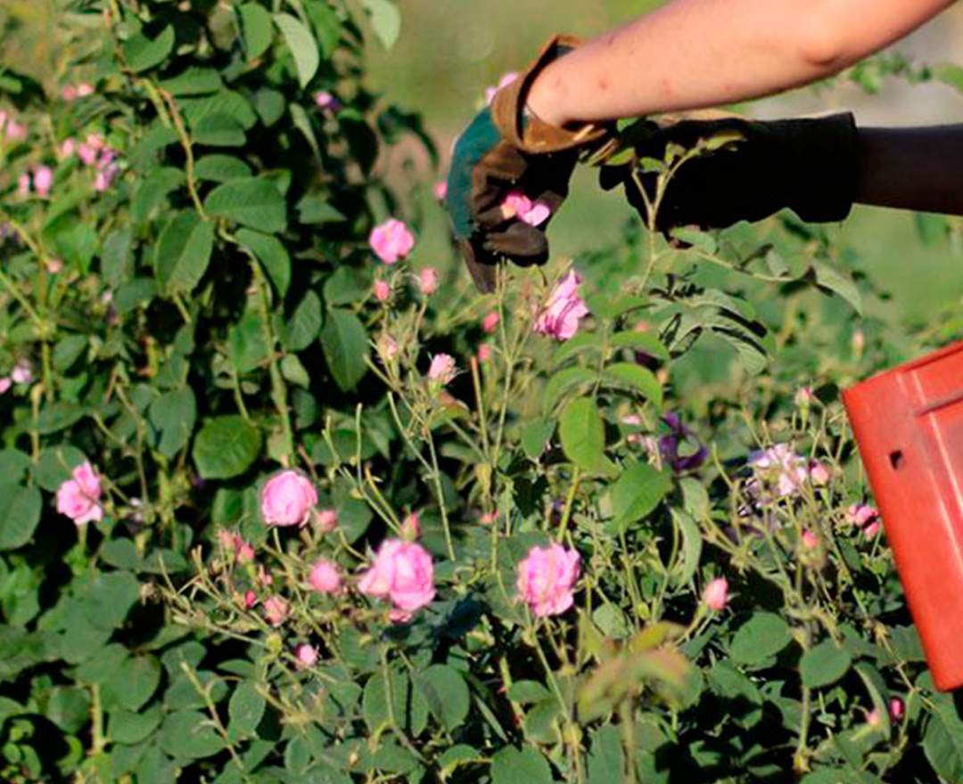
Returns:
[[[963,215],[963,125],[860,128],[856,201]]]

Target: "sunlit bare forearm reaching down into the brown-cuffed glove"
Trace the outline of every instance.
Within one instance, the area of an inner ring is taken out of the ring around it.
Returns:
[[[952,0],[673,0],[589,41],[535,79],[546,122],[699,109],[835,73]]]

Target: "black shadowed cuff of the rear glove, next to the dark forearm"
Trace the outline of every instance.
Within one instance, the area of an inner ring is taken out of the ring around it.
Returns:
[[[852,113],[784,120],[791,156],[790,204],[810,223],[843,220],[852,208],[859,177],[859,139]]]

